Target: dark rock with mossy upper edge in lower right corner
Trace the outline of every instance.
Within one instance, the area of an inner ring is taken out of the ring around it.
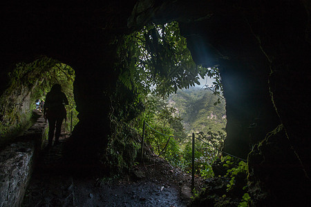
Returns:
[[[310,183],[283,125],[270,132],[248,157],[253,206],[309,206]],[[285,197],[286,195],[286,197]]]

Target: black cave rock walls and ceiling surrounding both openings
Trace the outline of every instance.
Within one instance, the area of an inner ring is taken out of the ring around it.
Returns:
[[[310,204],[309,1],[1,4],[1,94],[15,63],[46,55],[75,69],[80,121],[70,138],[75,140],[71,154],[93,159],[107,144],[109,112],[103,109],[110,106],[107,94],[119,73],[114,68],[118,39],[149,22],[178,21],[194,61],[220,68],[227,102],[224,148],[248,159],[255,206]]]

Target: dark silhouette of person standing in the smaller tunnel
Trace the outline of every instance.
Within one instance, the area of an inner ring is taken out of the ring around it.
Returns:
[[[68,99],[64,92],[62,92],[62,86],[54,84],[46,94],[46,101],[44,102],[44,119],[48,119],[48,148],[52,146],[54,131],[55,142],[54,145],[59,144],[59,136],[62,129],[63,120],[66,118],[66,108],[68,105]]]

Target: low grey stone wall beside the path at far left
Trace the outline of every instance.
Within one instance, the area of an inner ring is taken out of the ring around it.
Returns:
[[[45,130],[46,123],[41,117],[18,137],[19,141],[0,152],[0,207],[21,206]]]

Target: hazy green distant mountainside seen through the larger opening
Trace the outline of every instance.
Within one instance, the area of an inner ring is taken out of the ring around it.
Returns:
[[[226,110],[225,100],[214,106],[218,97],[212,94],[211,90],[191,87],[188,90],[178,90],[176,94],[170,95],[170,106],[177,108],[177,112],[182,118],[187,133],[221,131],[225,128]],[[211,129],[209,129],[211,128]]]

